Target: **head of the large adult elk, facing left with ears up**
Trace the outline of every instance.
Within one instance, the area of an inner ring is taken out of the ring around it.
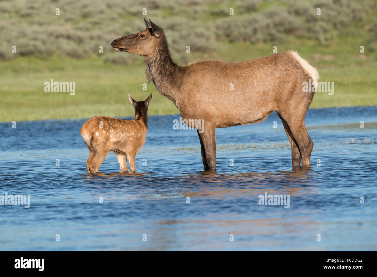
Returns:
[[[148,22],[145,18],[144,22],[147,27],[144,31],[114,40],[111,46],[115,51],[125,51],[143,56],[152,55],[157,49],[156,46],[161,37],[162,29],[152,21],[149,20]]]

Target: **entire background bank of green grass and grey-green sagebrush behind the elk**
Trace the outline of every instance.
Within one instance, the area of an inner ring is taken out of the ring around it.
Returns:
[[[143,58],[110,45],[145,28],[143,8],[181,65],[294,49],[320,81],[334,82],[334,94],[317,92],[311,108],[377,105],[376,0],[14,0],[0,2],[0,122],[132,116],[128,93],[141,100],[152,92],[150,115],[178,113],[153,84],[143,90]],[[75,95],[44,92],[51,79],[75,82]]]

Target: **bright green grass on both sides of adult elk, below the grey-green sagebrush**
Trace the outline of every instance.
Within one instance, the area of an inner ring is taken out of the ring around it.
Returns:
[[[168,38],[169,39],[169,38]],[[278,51],[297,50],[317,68],[321,81],[334,82],[334,95],[317,92],[311,108],[377,105],[377,54],[361,54],[362,38],[340,37],[336,43],[323,45],[314,40],[291,38],[278,45]],[[218,43],[208,54],[188,53],[187,61],[216,59],[242,61],[270,55],[272,44],[247,42]],[[132,55],[117,53],[114,57]],[[53,56],[17,57],[0,61],[0,121],[89,118],[94,115],[132,116],[127,94],[137,100],[153,93],[150,115],[178,113],[175,105],[161,96],[153,84],[146,83],[142,57],[128,65],[107,63],[103,54],[85,59]],[[181,64],[184,65],[184,64]],[[44,82],[75,81],[76,93],[44,92]]]

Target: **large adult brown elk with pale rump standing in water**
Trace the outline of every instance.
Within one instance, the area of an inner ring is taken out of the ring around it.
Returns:
[[[144,21],[144,31],[118,38],[112,46],[118,52],[144,56],[147,78],[173,101],[182,119],[204,119],[204,132],[198,135],[205,169],[216,168],[216,128],[261,122],[273,111],[291,142],[293,166],[309,165],[313,141],[305,115],[319,75],[297,52],[241,63],[199,61],[182,67],[172,61],[162,28]],[[303,92],[303,82],[310,79],[313,90]]]

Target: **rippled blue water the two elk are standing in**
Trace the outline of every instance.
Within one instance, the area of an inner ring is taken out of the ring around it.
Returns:
[[[377,107],[310,109],[308,169],[292,168],[276,113],[216,129],[216,171],[178,118],[149,117],[136,173],[113,153],[86,173],[85,120],[1,123],[0,194],[31,199],[0,205],[0,250],[377,250]],[[290,207],[259,205],[266,192]]]

